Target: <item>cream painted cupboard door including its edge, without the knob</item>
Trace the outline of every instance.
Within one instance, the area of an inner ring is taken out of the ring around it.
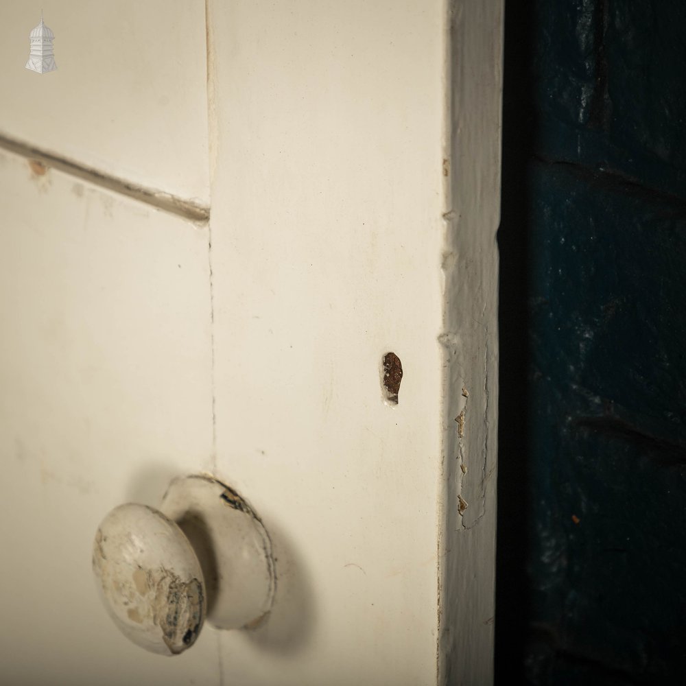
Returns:
[[[11,7],[4,681],[490,683],[501,2],[44,3],[47,74]],[[276,598],[164,658],[100,606],[93,534],[202,472]]]

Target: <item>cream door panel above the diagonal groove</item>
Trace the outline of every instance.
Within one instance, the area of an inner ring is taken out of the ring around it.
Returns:
[[[57,64],[44,74],[24,68],[41,7]],[[0,135],[207,202],[202,0],[10,0],[1,16]]]

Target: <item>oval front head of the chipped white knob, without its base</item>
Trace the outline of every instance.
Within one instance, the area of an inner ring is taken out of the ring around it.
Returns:
[[[100,524],[93,572],[107,611],[141,648],[176,655],[195,643],[206,613],[196,553],[162,512],[126,504]]]

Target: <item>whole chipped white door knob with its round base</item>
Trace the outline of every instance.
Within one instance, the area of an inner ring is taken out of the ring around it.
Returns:
[[[176,655],[204,619],[254,627],[274,600],[271,541],[233,488],[197,475],[171,482],[159,510],[129,503],[99,525],[93,573],[123,635],[145,650]]]

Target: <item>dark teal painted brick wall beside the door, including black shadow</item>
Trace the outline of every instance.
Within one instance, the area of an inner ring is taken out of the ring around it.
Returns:
[[[686,3],[507,12],[497,678],[683,684]]]

